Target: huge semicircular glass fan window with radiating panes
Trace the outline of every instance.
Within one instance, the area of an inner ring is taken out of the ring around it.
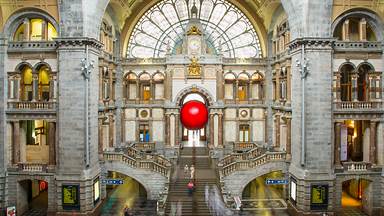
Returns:
[[[260,41],[248,18],[225,0],[164,0],[149,9],[129,39],[127,57],[164,57],[183,38],[196,5],[206,41],[224,57],[258,58]]]

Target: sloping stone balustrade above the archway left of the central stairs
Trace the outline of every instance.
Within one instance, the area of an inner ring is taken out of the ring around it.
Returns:
[[[128,166],[147,169],[169,178],[171,162],[160,155],[149,155],[132,147],[123,151],[104,152],[104,160],[119,161]]]

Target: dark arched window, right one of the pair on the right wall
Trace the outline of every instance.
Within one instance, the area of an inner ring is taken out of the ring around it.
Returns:
[[[374,72],[374,69],[369,64],[362,64],[357,72],[357,100],[368,101],[370,92],[369,74]],[[373,82],[371,84],[373,85]]]

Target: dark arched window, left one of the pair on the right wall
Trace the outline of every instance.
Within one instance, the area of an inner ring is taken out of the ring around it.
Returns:
[[[354,67],[351,64],[345,64],[340,68],[340,88],[341,100],[352,101],[352,73]]]

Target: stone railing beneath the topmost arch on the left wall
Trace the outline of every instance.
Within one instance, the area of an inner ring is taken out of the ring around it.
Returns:
[[[56,50],[57,44],[55,41],[18,41],[9,42],[8,51],[28,51],[36,49]]]

